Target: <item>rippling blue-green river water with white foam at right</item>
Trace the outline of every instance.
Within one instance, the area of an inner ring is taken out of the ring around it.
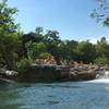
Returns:
[[[0,83],[0,109],[109,109],[109,81]]]

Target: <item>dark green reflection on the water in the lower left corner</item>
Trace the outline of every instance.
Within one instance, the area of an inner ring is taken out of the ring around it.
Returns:
[[[19,97],[13,84],[0,84],[0,109],[20,109],[20,105],[14,102]]]

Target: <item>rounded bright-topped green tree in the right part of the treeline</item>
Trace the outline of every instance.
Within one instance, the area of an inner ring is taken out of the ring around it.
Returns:
[[[85,63],[94,62],[96,58],[96,50],[93,44],[87,41],[81,41],[75,49],[76,60]]]

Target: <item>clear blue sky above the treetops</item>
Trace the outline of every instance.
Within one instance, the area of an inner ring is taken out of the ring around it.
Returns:
[[[19,9],[15,20],[25,33],[41,26],[58,31],[63,40],[109,39],[109,28],[90,17],[96,0],[8,0],[8,4]]]

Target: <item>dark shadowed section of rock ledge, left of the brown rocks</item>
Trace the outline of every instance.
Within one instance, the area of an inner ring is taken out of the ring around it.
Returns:
[[[27,82],[66,81],[68,72],[69,69],[56,65],[32,65],[19,74],[19,80]]]

